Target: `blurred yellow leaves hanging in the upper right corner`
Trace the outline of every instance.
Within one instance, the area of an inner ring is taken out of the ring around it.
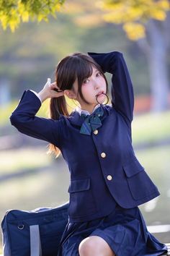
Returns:
[[[170,4],[168,0],[103,0],[99,8],[105,21],[122,24],[128,38],[138,40],[146,36],[148,20],[166,19]]]

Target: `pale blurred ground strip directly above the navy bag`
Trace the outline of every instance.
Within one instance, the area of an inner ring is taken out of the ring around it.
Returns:
[[[68,180],[66,166],[56,163],[55,168],[48,166],[46,171],[2,182],[0,218],[8,209],[32,210],[63,204],[68,201]]]

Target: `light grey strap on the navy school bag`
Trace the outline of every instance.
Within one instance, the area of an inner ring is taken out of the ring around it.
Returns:
[[[42,256],[39,225],[30,226],[30,256]]]

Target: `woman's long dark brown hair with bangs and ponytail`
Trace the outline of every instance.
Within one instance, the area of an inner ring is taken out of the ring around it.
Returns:
[[[58,88],[60,88],[60,90],[71,90],[73,83],[77,78],[78,93],[81,99],[89,104],[81,92],[81,86],[86,78],[91,77],[93,72],[92,67],[96,67],[99,72],[101,72],[107,85],[106,93],[108,93],[107,78],[102,72],[101,67],[91,58],[91,56],[82,53],[68,55],[58,63],[55,71],[55,82]],[[60,114],[69,116],[64,95],[58,98],[50,98],[50,118],[57,120]],[[54,152],[56,157],[60,154],[60,150],[53,144],[49,145],[48,152]]]

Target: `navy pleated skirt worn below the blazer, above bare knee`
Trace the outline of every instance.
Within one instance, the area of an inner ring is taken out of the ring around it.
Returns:
[[[67,223],[58,256],[79,256],[79,244],[87,236],[100,236],[117,256],[162,255],[165,244],[148,232],[138,207],[119,205],[108,216],[92,221]]]

